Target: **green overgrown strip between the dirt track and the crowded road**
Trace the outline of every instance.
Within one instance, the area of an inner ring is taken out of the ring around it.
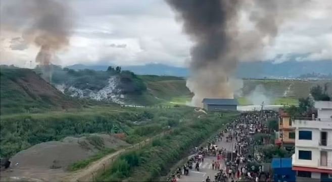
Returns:
[[[156,179],[161,173],[167,173],[169,167],[188,149],[208,139],[211,133],[220,129],[222,124],[230,122],[237,114],[226,113],[225,115],[221,119],[218,114],[213,113],[201,119],[192,117],[191,122],[181,124],[170,135],[155,139],[151,145],[139,150],[123,154],[98,180],[151,181]]]

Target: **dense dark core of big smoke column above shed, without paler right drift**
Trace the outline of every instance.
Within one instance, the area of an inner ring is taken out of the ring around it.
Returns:
[[[232,36],[238,19],[239,1],[168,0],[184,21],[184,31],[196,42],[191,49],[191,76],[187,87],[193,104],[204,97],[233,98],[228,76],[238,62]]]

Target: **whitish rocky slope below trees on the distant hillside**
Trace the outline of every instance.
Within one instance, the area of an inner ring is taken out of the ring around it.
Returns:
[[[56,85],[56,88],[62,93],[72,97],[90,98],[93,100],[108,100],[115,103],[123,104],[124,95],[121,94],[121,89],[117,88],[118,77],[113,76],[109,78],[108,85],[101,90],[79,89],[70,85]]]

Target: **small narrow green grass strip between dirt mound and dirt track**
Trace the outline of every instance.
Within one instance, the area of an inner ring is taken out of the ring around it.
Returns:
[[[68,167],[68,170],[75,171],[75,170],[82,169],[82,168],[88,166],[91,162],[97,161],[108,154],[114,153],[115,151],[116,151],[115,149],[104,148],[104,149],[100,150],[97,154],[94,154],[87,159],[74,162],[73,164],[71,164]]]

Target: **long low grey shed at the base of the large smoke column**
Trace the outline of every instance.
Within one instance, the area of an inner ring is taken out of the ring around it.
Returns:
[[[236,99],[204,98],[202,102],[208,111],[236,110],[238,107]]]

